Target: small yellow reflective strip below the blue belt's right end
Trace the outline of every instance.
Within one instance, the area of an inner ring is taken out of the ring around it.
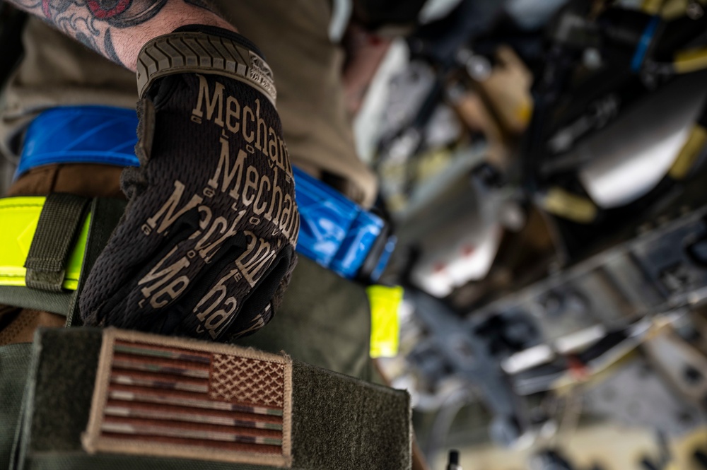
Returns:
[[[400,339],[398,309],[402,302],[400,286],[368,286],[370,302],[370,357],[392,358],[397,356]]]

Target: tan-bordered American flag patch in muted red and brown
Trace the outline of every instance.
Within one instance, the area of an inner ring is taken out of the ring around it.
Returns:
[[[106,329],[83,447],[289,467],[291,377],[287,356]]]

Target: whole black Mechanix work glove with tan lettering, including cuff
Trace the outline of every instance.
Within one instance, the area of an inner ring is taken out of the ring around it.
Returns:
[[[264,326],[296,262],[294,182],[262,54],[191,26],[138,60],[129,204],[81,295],[86,324],[228,341]]]

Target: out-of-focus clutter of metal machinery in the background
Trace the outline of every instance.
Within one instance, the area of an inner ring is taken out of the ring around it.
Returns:
[[[333,4],[431,467],[707,469],[707,0]]]

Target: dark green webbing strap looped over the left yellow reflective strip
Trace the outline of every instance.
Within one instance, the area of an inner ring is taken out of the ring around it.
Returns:
[[[66,264],[83,225],[88,201],[74,194],[47,196],[25,261],[29,288],[62,291]]]

